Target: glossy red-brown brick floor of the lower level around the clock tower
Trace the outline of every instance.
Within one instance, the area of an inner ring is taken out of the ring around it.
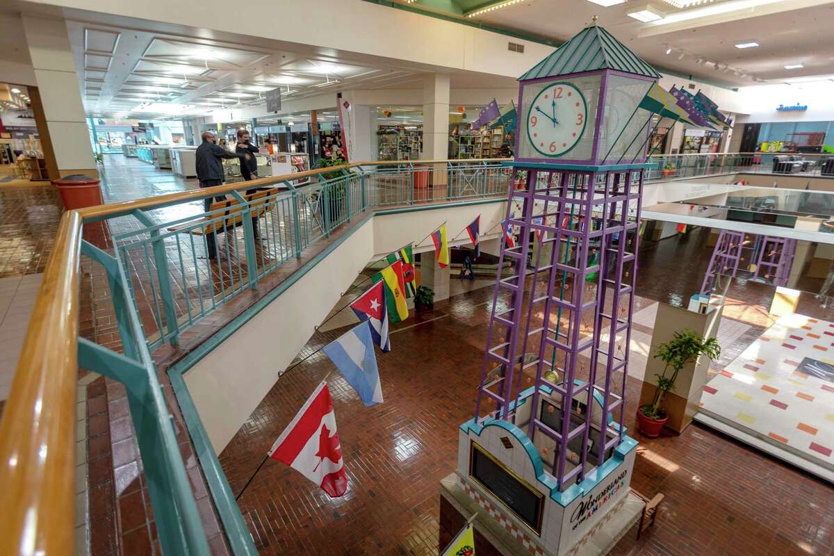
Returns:
[[[239,500],[261,553],[437,553],[439,481],[455,468],[457,425],[475,408],[490,297],[490,288],[461,294],[397,325],[392,351],[378,357],[382,405],[364,408],[342,378],[329,379],[349,492],[331,500],[269,461]],[[638,306],[648,303],[644,298]],[[314,337],[307,351],[340,332]],[[220,455],[234,492],[332,368],[314,354],[270,390]],[[640,388],[628,379],[625,420],[632,431]],[[681,436],[637,438],[632,485],[650,496],[666,493],[666,503],[654,532],[640,543],[630,534],[612,553],[776,556],[834,549],[829,485],[697,424]]]

